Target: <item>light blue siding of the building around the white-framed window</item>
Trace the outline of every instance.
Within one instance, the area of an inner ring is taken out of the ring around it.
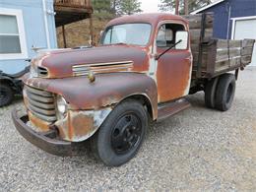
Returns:
[[[47,10],[53,10],[53,0],[46,0]],[[23,11],[25,35],[27,40],[28,55],[32,58],[35,53],[32,46],[46,47],[46,33],[44,28],[43,8],[41,0],[1,0],[1,8],[17,9]],[[47,15],[50,44],[57,47],[54,15]],[[24,59],[1,60],[0,70],[6,73],[17,73],[28,65]]]

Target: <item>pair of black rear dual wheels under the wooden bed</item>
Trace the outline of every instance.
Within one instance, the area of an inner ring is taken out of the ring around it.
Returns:
[[[233,74],[224,74],[220,78],[209,81],[205,89],[205,103],[210,108],[221,111],[228,110],[235,93],[235,77]]]

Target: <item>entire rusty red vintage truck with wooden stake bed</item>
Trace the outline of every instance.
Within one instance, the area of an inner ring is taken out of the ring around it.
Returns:
[[[74,144],[90,139],[99,160],[118,166],[135,156],[149,122],[187,108],[189,94],[204,91],[208,107],[229,109],[253,45],[213,38],[211,14],[117,18],[97,47],[33,58],[24,77],[27,114],[14,110],[12,118],[50,154],[72,155]]]

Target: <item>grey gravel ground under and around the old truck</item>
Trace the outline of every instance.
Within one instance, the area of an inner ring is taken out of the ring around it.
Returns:
[[[227,112],[193,107],[154,124],[135,159],[109,168],[85,148],[81,156],[48,155],[18,134],[0,109],[0,191],[186,190],[256,191],[256,70],[240,73]]]

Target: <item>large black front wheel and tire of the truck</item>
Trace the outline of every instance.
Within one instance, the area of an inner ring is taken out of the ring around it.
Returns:
[[[147,128],[148,113],[143,105],[133,99],[126,100],[102,123],[91,140],[91,148],[106,165],[119,166],[136,155]]]

